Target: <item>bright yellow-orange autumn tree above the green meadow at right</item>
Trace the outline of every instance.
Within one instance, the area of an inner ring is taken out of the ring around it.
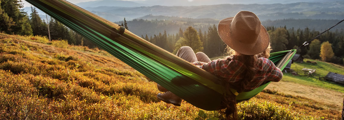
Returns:
[[[323,61],[329,61],[333,57],[334,53],[329,41],[323,42],[320,49],[320,57]]]

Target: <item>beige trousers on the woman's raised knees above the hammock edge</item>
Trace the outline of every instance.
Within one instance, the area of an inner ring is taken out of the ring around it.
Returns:
[[[204,54],[203,52],[197,52],[195,54],[192,48],[190,48],[189,46],[180,47],[176,56],[190,63],[197,62],[197,61],[204,62],[204,63],[211,62],[211,60],[206,54]]]

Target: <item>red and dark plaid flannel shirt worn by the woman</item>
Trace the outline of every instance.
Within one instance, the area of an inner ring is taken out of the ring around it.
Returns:
[[[194,62],[192,63],[205,71],[217,76],[221,80],[226,80],[234,86],[234,89],[240,86],[240,81],[244,79],[245,65],[244,62],[237,60],[235,55],[228,56],[224,59],[216,59],[209,63]],[[203,65],[202,65],[203,64]],[[244,91],[250,91],[258,88],[261,84],[269,81],[278,82],[282,79],[282,72],[268,58],[258,58],[258,71],[254,79],[246,86]]]

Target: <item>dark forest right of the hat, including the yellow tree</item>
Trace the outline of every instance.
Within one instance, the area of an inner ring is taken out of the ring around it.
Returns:
[[[330,27],[330,26],[329,26]],[[305,29],[287,29],[284,27],[266,27],[269,32],[272,52],[297,49],[305,41],[309,41],[322,31]],[[344,30],[327,31],[309,45],[298,50],[304,58],[321,59],[335,64],[343,64]]]

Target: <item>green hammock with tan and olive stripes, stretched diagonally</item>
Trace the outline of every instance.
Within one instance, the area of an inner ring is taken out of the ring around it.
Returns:
[[[237,94],[234,89],[225,91],[220,80],[209,72],[72,3],[65,0],[26,1],[198,108],[218,110],[224,95]],[[271,53],[269,59],[283,69],[295,52]],[[238,94],[237,101],[254,97],[268,84]]]

